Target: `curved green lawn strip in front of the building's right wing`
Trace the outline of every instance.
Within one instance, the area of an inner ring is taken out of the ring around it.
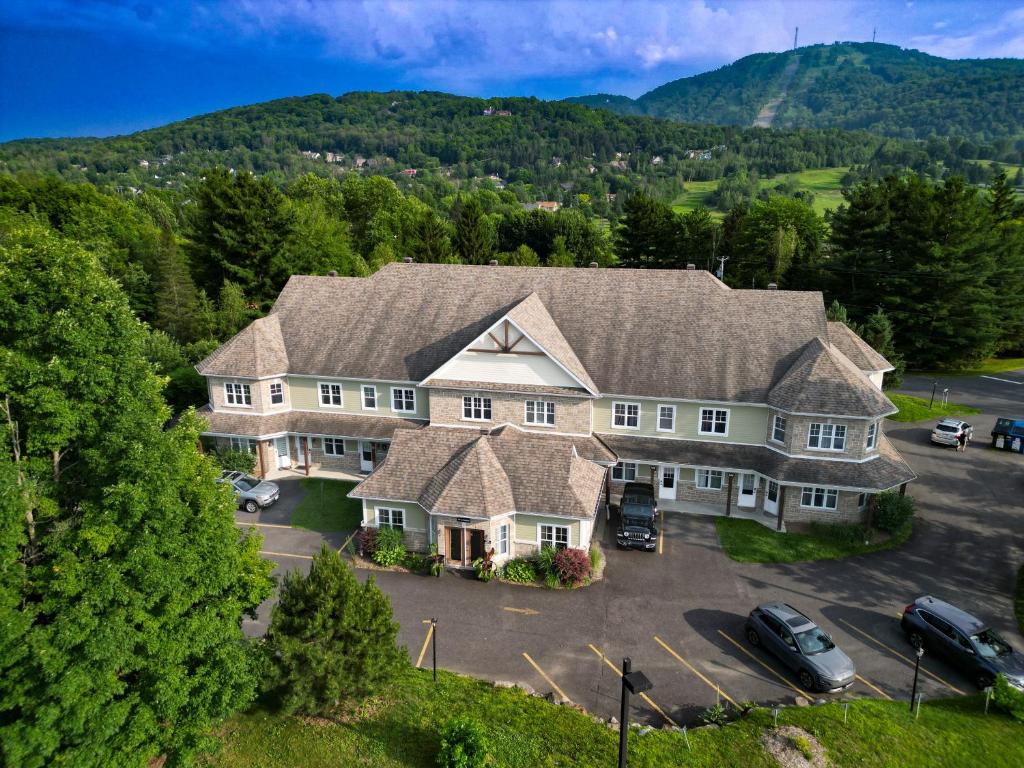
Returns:
[[[891,538],[872,531],[870,544],[850,535],[847,525],[815,525],[809,532],[779,534],[755,520],[716,517],[715,527],[725,553],[737,562],[808,562],[837,560],[891,549],[905,542],[910,527]]]

